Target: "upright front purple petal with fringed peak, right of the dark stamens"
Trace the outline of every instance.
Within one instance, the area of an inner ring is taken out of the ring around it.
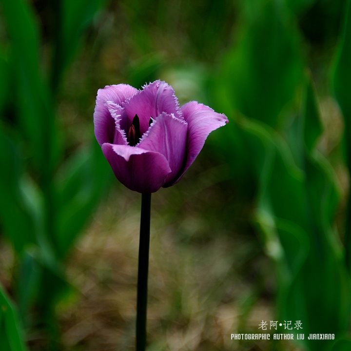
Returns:
[[[184,162],[188,125],[174,115],[163,113],[152,123],[138,147],[155,151],[166,157],[172,170],[166,183],[172,181]]]

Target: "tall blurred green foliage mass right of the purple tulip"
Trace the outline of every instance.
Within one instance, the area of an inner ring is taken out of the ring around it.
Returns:
[[[284,19],[286,10],[281,2],[268,2],[259,20],[245,22],[248,34],[224,57],[216,79],[217,106],[236,116],[232,130],[240,139],[230,140],[227,131],[224,148],[232,167],[256,179],[254,218],[277,262],[278,316],[303,320],[305,334],[318,330],[338,338],[347,335],[350,322],[348,249],[334,226],[341,193],[333,168],[316,148],[323,129],[318,101],[310,74],[303,73],[296,22]],[[340,78],[334,78],[340,94],[347,91],[341,79],[347,80],[350,66],[344,60]],[[347,126],[345,132],[348,140]],[[334,341],[303,343],[308,350],[329,350]]]

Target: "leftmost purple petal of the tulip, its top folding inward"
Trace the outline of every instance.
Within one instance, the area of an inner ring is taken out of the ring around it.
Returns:
[[[115,119],[111,116],[106,101],[121,105],[137,92],[136,88],[128,84],[107,85],[98,90],[94,111],[94,132],[100,145],[113,142],[115,137]]]

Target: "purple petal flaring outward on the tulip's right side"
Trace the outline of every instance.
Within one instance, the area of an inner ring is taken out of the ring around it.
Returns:
[[[181,111],[185,121],[188,123],[186,162],[181,175],[174,182],[167,184],[167,186],[179,181],[184,172],[194,162],[209,134],[228,123],[228,118],[225,115],[216,113],[212,108],[199,104],[196,101],[187,102],[181,107]]]

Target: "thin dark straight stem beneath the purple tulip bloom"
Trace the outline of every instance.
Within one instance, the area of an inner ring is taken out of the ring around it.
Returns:
[[[146,347],[147,279],[149,271],[151,194],[141,194],[137,280],[137,351]]]

